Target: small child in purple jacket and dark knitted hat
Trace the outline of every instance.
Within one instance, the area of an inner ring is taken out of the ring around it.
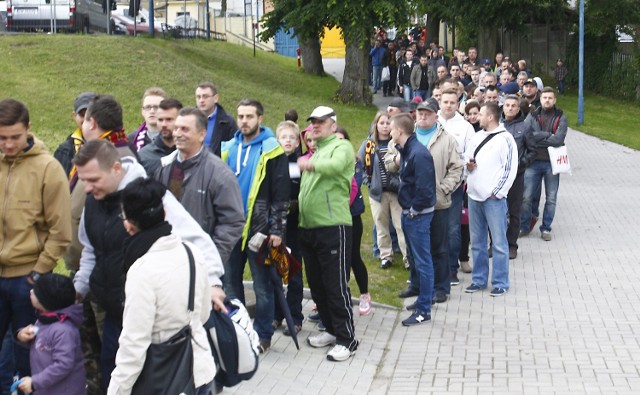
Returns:
[[[25,393],[84,395],[86,375],[80,347],[82,305],[75,304],[73,281],[59,274],[44,274],[31,290],[38,311],[34,325],[18,331],[21,343],[30,344],[32,376],[22,378]]]

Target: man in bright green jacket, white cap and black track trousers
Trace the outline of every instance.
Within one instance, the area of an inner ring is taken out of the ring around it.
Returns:
[[[349,271],[351,270],[351,213],[349,193],[355,155],[347,140],[335,136],[336,113],[319,106],[307,119],[318,150],[298,159],[300,183],[300,246],[311,296],[326,332],[310,336],[312,347],[335,346],[330,361],[345,361],[358,348],[353,326]]]

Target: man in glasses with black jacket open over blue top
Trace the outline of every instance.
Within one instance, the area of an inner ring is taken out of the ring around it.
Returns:
[[[204,145],[220,156],[220,144],[233,137],[238,125],[218,100],[218,88],[212,82],[203,82],[196,88],[196,106],[208,119]]]

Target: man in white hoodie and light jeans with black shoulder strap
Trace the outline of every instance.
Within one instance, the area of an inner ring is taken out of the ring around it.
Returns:
[[[491,296],[509,289],[509,243],[507,241],[507,193],[518,171],[518,147],[500,123],[500,108],[485,103],[480,108],[480,127],[465,150],[469,231],[473,254],[472,284],[465,292],[487,287],[489,254],[487,234],[493,237]]]

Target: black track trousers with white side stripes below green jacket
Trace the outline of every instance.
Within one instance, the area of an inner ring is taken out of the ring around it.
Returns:
[[[349,290],[351,228],[346,225],[300,228],[300,247],[311,297],[327,332],[336,337],[337,344],[354,351],[358,342]]]

